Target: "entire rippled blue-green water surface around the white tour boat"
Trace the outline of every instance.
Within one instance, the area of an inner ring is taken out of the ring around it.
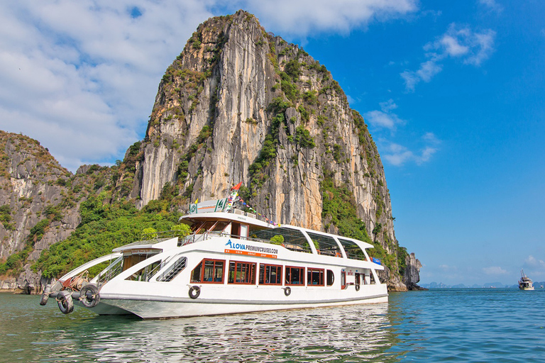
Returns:
[[[545,291],[438,289],[390,303],[175,320],[62,315],[0,294],[0,362],[544,362]]]

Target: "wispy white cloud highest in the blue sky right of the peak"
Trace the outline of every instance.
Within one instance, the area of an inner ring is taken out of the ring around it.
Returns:
[[[434,42],[424,45],[426,62],[420,64],[416,71],[405,70],[400,76],[405,82],[407,91],[414,91],[420,82],[430,82],[443,70],[443,62],[448,58],[461,60],[465,65],[478,67],[494,52],[496,33],[487,29],[480,32],[471,30],[468,26],[458,26],[452,23],[446,33]]]

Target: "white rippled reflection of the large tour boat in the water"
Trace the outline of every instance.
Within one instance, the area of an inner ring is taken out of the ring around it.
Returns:
[[[379,303],[177,320],[95,317],[77,345],[102,362],[383,362],[396,340],[387,310]]]

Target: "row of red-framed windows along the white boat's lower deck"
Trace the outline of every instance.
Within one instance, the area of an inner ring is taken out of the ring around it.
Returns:
[[[191,273],[192,283],[223,284],[225,281],[226,262],[223,259],[203,259]],[[306,274],[305,274],[306,269]],[[282,285],[282,274],[286,285],[331,286],[334,274],[330,269],[305,268],[277,264],[258,264],[255,262],[229,262],[227,269],[228,284]]]

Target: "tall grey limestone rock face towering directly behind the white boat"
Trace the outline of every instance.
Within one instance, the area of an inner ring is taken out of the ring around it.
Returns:
[[[336,233],[324,185],[346,188],[370,240],[395,256],[382,279],[404,289],[390,195],[363,118],[324,66],[251,14],[197,28],[160,82],[138,155],[129,178],[140,206],[164,186],[176,186],[187,208],[241,181],[248,204],[271,220]]]

